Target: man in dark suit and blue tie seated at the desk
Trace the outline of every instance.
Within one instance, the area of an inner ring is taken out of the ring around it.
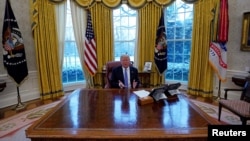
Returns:
[[[112,88],[138,88],[140,81],[138,70],[133,67],[128,55],[120,57],[121,66],[112,70],[111,87]],[[127,81],[125,81],[127,79]]]

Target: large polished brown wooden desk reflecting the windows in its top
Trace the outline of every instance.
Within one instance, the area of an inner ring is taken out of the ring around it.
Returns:
[[[184,95],[176,102],[138,105],[125,89],[78,89],[26,130],[32,141],[207,141],[219,124]]]

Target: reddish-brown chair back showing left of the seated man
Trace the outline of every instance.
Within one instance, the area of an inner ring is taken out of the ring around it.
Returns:
[[[112,76],[112,70],[115,67],[118,67],[121,65],[120,61],[109,61],[106,64],[106,75],[105,75],[105,86],[104,88],[111,88],[110,80]]]

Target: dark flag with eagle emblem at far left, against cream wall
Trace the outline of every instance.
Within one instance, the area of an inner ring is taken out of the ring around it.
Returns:
[[[20,85],[28,76],[28,68],[22,34],[12,11],[9,0],[6,0],[3,21],[3,64],[8,75]]]

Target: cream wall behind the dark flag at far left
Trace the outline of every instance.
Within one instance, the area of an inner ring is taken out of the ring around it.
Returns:
[[[10,0],[10,3],[24,40],[29,70],[27,80],[25,80],[24,83],[19,87],[21,100],[24,102],[39,97],[35,48],[30,26],[29,0]],[[5,0],[0,0],[0,13],[0,36],[2,43]],[[2,51],[0,51],[0,56],[2,56]],[[0,92],[0,108],[17,104],[17,87],[16,84],[13,83],[12,79],[7,76],[7,72],[3,66],[3,57],[0,57],[0,79],[5,80],[7,85],[4,91]]]

